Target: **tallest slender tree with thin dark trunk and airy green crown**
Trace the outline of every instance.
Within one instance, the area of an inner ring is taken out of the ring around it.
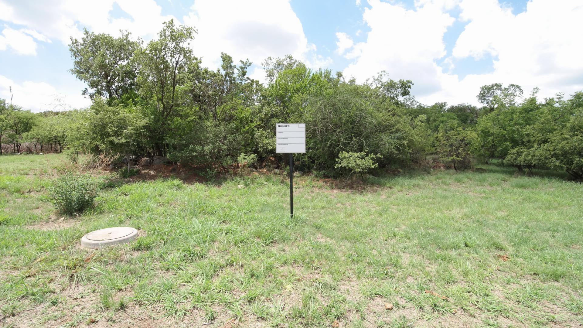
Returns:
[[[192,27],[175,26],[170,20],[164,23],[158,39],[149,41],[138,54],[140,93],[153,102],[144,109],[150,117],[149,132],[156,155],[166,155],[168,122],[179,106],[179,89],[187,81],[187,67],[194,59],[188,47],[194,33]]]

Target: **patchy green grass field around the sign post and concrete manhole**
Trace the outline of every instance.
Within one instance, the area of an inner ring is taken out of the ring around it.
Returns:
[[[497,166],[365,191],[302,176],[290,219],[284,175],[134,179],[61,219],[45,186],[64,160],[0,157],[3,327],[583,324],[583,184]],[[110,226],[141,236],[80,247]]]

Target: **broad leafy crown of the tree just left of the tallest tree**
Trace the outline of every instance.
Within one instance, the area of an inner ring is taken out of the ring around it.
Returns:
[[[83,95],[91,99],[96,96],[114,99],[134,90],[138,69],[134,53],[141,48],[141,40],[131,40],[127,31],[120,33],[120,37],[113,37],[84,29],[81,41],[71,37],[69,51],[73,68],[70,71],[89,86]]]

